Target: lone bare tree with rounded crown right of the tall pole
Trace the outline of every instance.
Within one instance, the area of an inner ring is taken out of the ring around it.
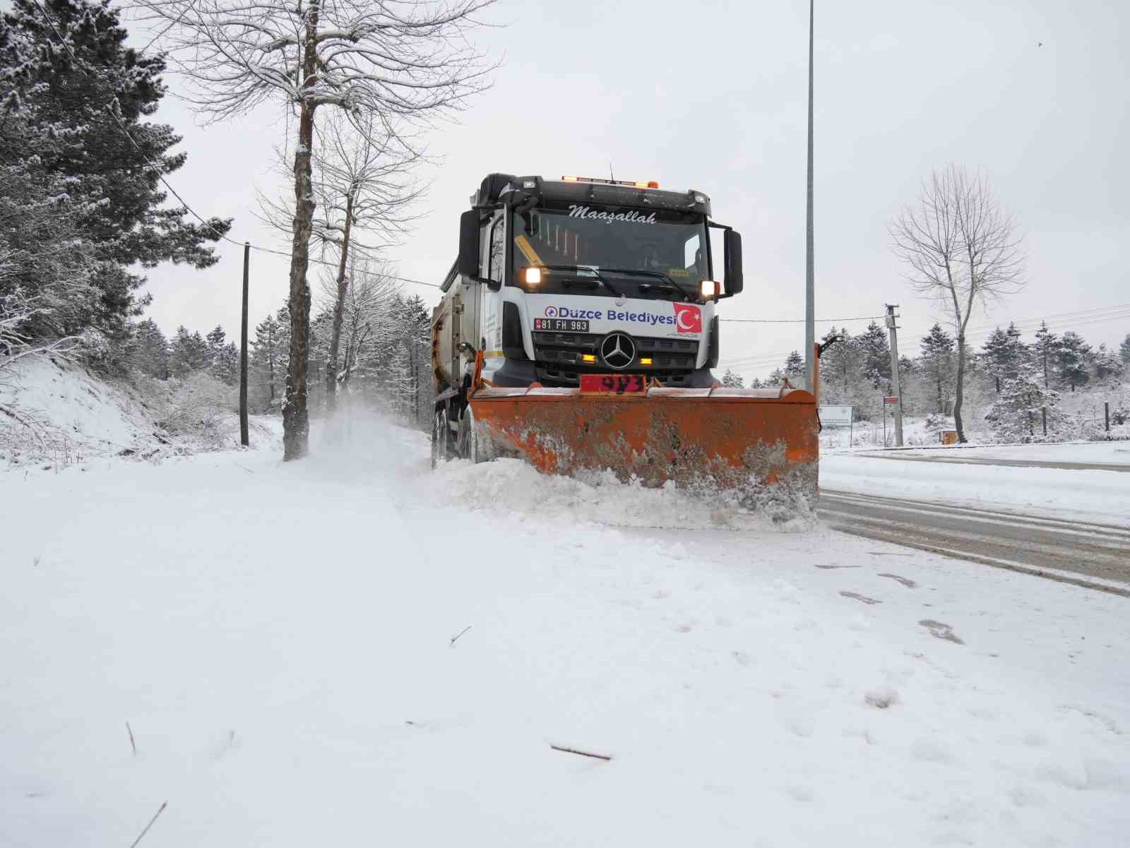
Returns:
[[[1024,259],[1016,225],[984,176],[948,166],[923,182],[918,202],[889,225],[895,254],[909,266],[905,279],[935,299],[953,321],[957,336],[954,423],[965,442],[962,401],[965,385],[965,327],[973,307],[1019,291]]]

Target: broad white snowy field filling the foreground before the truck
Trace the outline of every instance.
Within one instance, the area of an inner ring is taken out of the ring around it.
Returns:
[[[1127,843],[1124,598],[321,442],[0,473],[0,843]]]

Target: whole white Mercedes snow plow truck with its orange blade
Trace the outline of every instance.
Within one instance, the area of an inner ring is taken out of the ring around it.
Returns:
[[[741,236],[711,220],[707,195],[490,174],[470,206],[432,316],[433,465],[513,456],[780,514],[815,506],[814,395],[711,373],[715,306],[742,273]]]

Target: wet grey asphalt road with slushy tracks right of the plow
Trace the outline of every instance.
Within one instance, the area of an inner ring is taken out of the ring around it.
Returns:
[[[1130,527],[828,489],[819,504],[844,533],[1130,597]]]

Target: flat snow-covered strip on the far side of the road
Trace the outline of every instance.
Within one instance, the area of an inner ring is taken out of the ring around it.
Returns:
[[[1130,472],[980,464],[980,461],[1006,460],[1130,465],[1130,442],[998,445],[893,454],[826,453],[820,457],[820,486],[862,495],[939,500],[1130,526]]]

